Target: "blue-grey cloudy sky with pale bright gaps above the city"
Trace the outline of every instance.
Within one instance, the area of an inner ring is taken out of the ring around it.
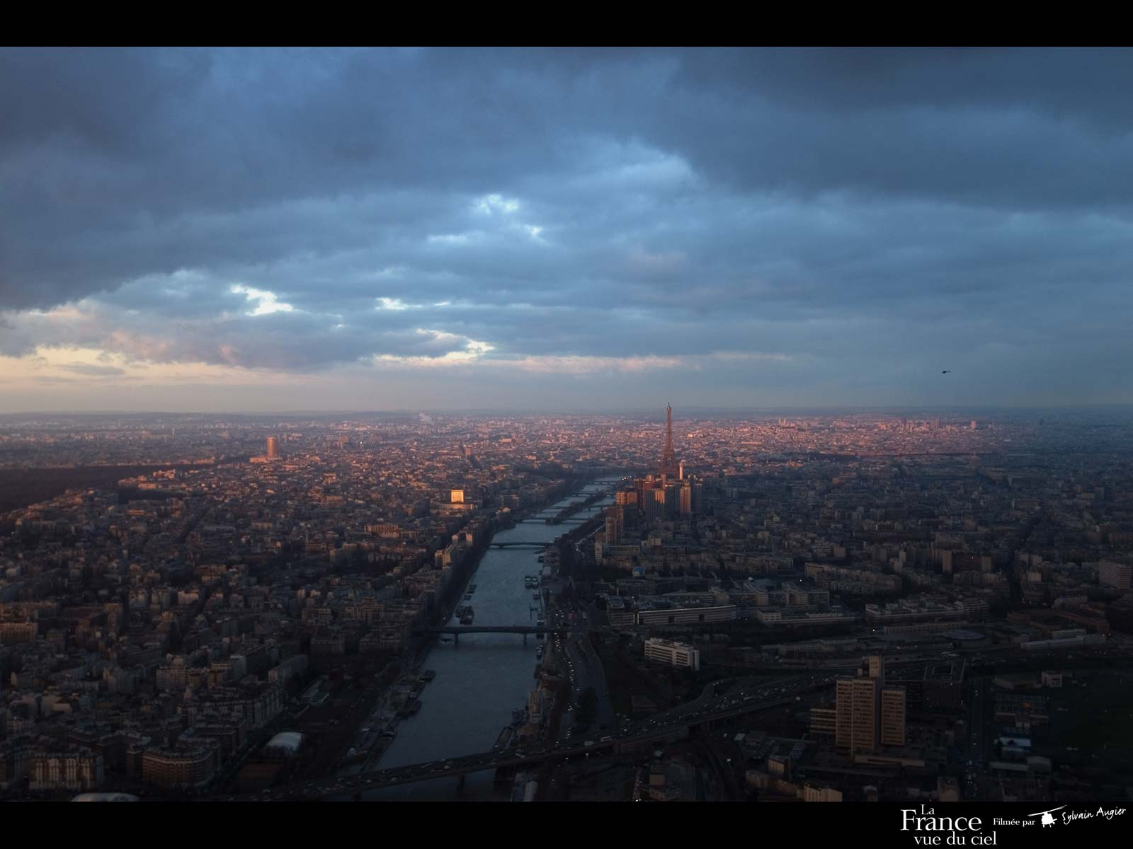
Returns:
[[[1116,50],[2,50],[0,412],[1130,403],[1131,84]]]

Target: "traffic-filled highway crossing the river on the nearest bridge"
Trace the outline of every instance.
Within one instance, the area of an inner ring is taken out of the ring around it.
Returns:
[[[833,675],[801,675],[790,679],[780,678],[775,681],[740,679],[733,683],[717,683],[722,685],[721,688],[725,689],[722,695],[709,695],[706,688],[706,692],[701,693],[700,697],[693,702],[688,702],[665,713],[658,713],[647,720],[627,726],[620,731],[582,744],[559,743],[554,746],[531,748],[529,752],[523,749],[484,752],[477,755],[409,764],[339,779],[310,781],[264,791],[263,795],[253,795],[250,798],[265,801],[325,799],[361,794],[394,784],[429,781],[446,775],[460,777],[499,767],[530,766],[548,760],[589,756],[598,752],[622,752],[642,744],[678,739],[689,729],[699,726],[726,722],[744,713],[791,704],[802,693],[828,687],[834,678]],[[727,686],[729,684],[731,686]],[[712,692],[715,693],[715,688]],[[597,735],[595,736],[597,737]]]

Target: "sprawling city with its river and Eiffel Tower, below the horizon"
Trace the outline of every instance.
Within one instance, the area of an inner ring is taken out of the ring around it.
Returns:
[[[0,798],[1125,798],[1127,414],[673,401],[0,417]]]

